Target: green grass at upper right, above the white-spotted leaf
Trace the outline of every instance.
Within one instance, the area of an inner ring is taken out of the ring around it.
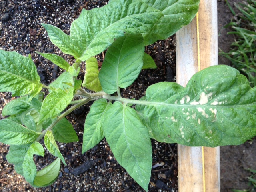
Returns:
[[[252,87],[256,86],[256,0],[235,4],[238,14],[227,0],[226,3],[234,17],[225,27],[231,26],[234,31],[228,34],[234,34],[236,39],[230,52],[220,51],[220,55],[228,58],[234,68],[245,74]]]

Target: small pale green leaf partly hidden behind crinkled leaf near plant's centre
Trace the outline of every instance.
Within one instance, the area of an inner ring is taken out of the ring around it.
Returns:
[[[62,90],[66,90],[70,88],[70,85],[66,83],[71,83],[73,85],[73,76],[69,72],[65,71],[64,73],[60,74],[60,76],[54,82],[52,82],[49,86],[53,90],[58,88]],[[49,90],[49,92],[51,91],[52,90]]]

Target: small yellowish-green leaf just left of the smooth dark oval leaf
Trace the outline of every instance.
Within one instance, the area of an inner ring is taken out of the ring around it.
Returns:
[[[83,87],[93,90],[95,92],[102,91],[99,80],[98,61],[95,57],[86,60],[86,71],[84,75]]]

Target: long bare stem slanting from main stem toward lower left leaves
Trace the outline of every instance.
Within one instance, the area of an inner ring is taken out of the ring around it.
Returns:
[[[40,134],[40,136],[36,139],[36,141],[40,141],[44,135],[46,134],[46,132],[48,130],[52,130],[52,128],[62,119],[64,118],[66,115],[70,114],[72,111],[74,111],[75,109],[79,108],[80,106],[88,103],[90,101],[89,98],[86,98],[86,99],[82,99],[80,100],[80,102],[74,106],[72,106],[71,108],[69,108],[68,110],[66,110],[64,113],[62,113],[60,116],[58,116],[58,118],[56,120],[54,120],[54,122],[52,122],[52,124],[50,124],[50,126],[48,126],[48,128],[46,128],[42,134]]]

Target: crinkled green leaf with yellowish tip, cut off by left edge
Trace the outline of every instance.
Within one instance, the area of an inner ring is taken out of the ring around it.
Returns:
[[[36,66],[30,57],[0,50],[0,92],[12,96],[36,95],[42,89]]]

